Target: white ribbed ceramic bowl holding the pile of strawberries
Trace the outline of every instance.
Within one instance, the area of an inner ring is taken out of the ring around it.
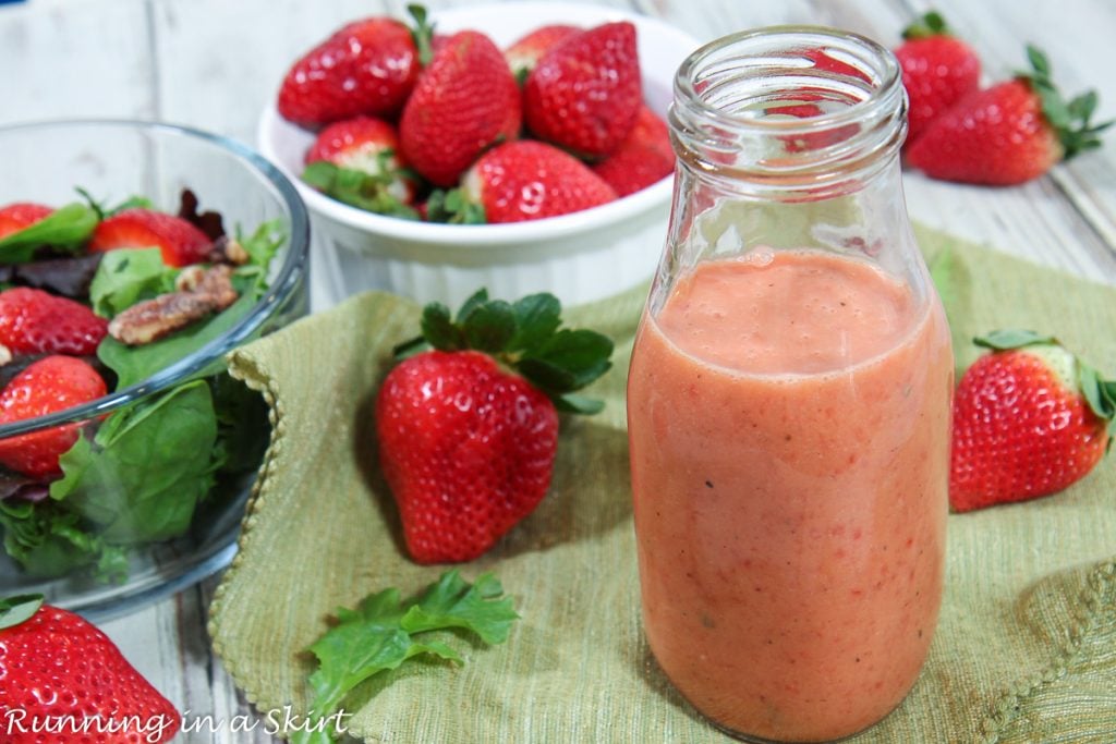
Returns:
[[[434,16],[440,32],[465,28],[507,48],[547,23],[590,28],[628,20],[636,27],[644,98],[665,116],[674,74],[699,42],[666,23],[614,8],[561,2],[471,6]],[[298,174],[314,135],[268,107],[259,148],[297,184],[312,223],[315,287],[334,302],[383,289],[421,302],[455,306],[477,289],[514,299],[550,291],[566,305],[603,299],[646,280],[666,233],[672,178],[594,209],[493,225],[445,225],[372,214],[302,184]],[[316,301],[319,298],[315,298]]]

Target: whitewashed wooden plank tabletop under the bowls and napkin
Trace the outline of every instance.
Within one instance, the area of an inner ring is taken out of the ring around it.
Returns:
[[[471,0],[427,0],[432,9]],[[701,40],[773,23],[821,23],[887,46],[926,9],[921,0],[600,0],[667,19]],[[1024,65],[1023,42],[1045,48],[1068,93],[1095,87],[1100,118],[1116,116],[1110,0],[936,0],[980,51],[987,74]],[[257,116],[291,60],[341,22],[402,0],[29,0],[0,6],[0,123],[55,117],[164,119],[253,143]],[[1110,135],[1109,139],[1116,139]],[[0,164],[0,177],[8,177]],[[1036,261],[1116,283],[1116,142],[1003,190],[905,181],[914,219]],[[1116,360],[1096,360],[1106,368]],[[210,653],[205,612],[215,581],[104,624],[128,658],[189,716],[217,733],[184,742],[269,742]]]

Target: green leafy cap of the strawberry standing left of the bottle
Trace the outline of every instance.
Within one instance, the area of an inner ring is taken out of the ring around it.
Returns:
[[[604,402],[576,395],[612,368],[613,341],[586,329],[561,327],[561,302],[549,292],[516,302],[489,299],[481,289],[454,317],[441,302],[423,309],[422,336],[395,347],[405,358],[427,348],[483,351],[523,376],[558,410],[595,414]]]

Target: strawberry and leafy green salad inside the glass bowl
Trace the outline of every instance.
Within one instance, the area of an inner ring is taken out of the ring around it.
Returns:
[[[143,383],[260,301],[280,225],[227,234],[196,205],[190,192],[176,214],[142,197],[0,205],[0,426]],[[123,580],[131,550],[183,534],[267,441],[262,400],[219,369],[0,438],[4,549],[32,577]]]

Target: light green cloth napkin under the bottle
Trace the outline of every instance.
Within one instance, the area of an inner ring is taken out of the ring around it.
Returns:
[[[918,231],[952,248],[959,338],[999,327],[1056,332],[1116,367],[1116,290]],[[714,742],[657,670],[639,622],[624,386],[644,290],[567,312],[617,339],[593,390],[605,413],[566,418],[551,492],[465,578],[494,571],[522,615],[508,644],[468,664],[405,665],[347,713],[367,742]],[[213,647],[260,711],[305,705],[305,649],[337,607],[443,570],[404,558],[376,468],[371,403],[419,309],[354,298],[235,352],[263,392],[273,438],[240,553],[211,607]],[[971,358],[968,346],[959,348]],[[1116,466],[1054,497],[950,518],[946,592],[925,669],[903,705],[850,742],[1116,741]],[[410,668],[407,668],[410,666]]]

